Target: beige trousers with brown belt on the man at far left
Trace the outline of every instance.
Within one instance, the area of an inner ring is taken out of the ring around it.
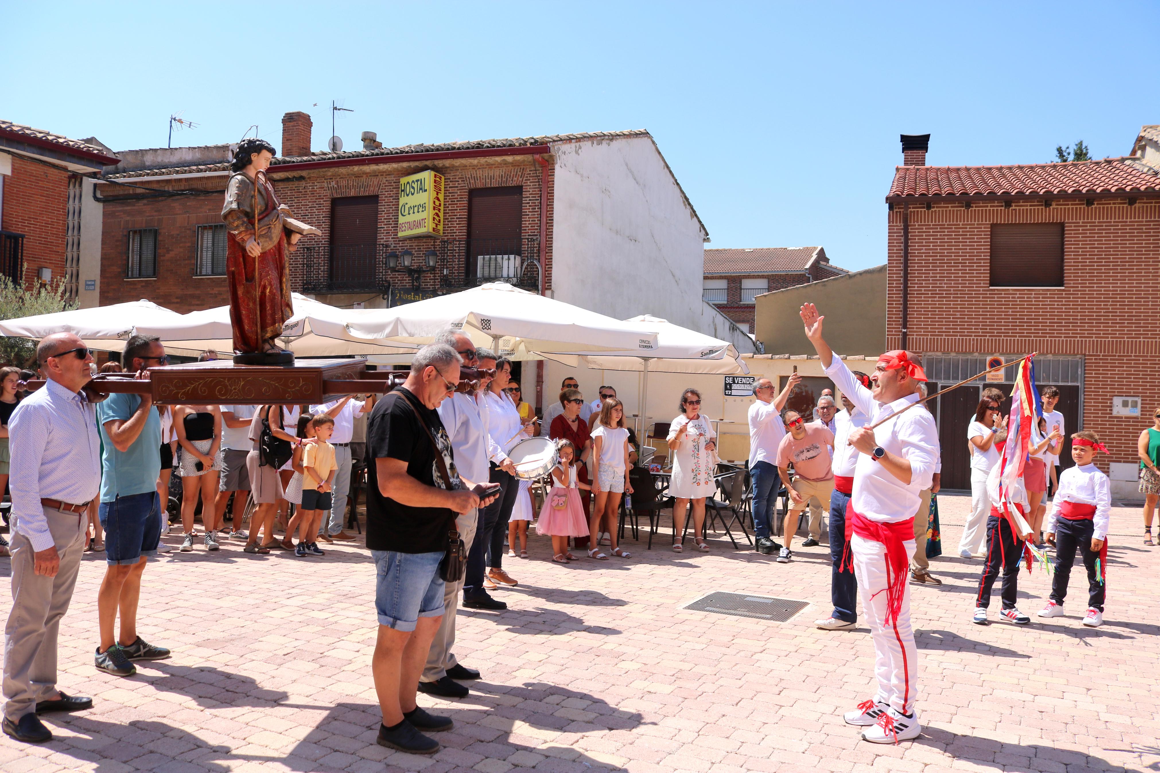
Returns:
[[[36,702],[57,691],[57,635],[60,618],[68,611],[85,549],[85,513],[44,508],[60,569],[56,577],[35,573],[32,544],[20,533],[12,535],[12,612],[5,626],[3,694],[5,719],[19,722],[36,710]]]

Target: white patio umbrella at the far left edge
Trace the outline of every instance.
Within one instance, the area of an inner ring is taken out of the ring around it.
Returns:
[[[123,347],[138,326],[172,323],[181,316],[177,312],[152,301],[135,300],[3,320],[0,321],[0,335],[43,338],[53,333],[75,333],[93,349],[114,351]]]

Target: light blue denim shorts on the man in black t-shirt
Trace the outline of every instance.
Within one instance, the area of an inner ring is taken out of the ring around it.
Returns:
[[[438,563],[443,553],[371,550],[375,559],[375,608],[378,625],[414,630],[419,618],[443,614],[443,581]]]

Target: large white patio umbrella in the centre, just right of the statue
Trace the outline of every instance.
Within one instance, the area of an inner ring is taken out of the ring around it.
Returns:
[[[543,359],[538,351],[647,352],[657,330],[628,324],[502,282],[437,298],[349,312],[345,324],[314,322],[319,335],[343,340],[387,340],[421,345],[449,324],[459,324],[476,345],[494,347],[515,359]]]

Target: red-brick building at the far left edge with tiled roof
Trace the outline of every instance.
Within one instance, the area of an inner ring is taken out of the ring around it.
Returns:
[[[64,282],[75,300],[85,182],[116,162],[92,138],[0,121],[0,276],[24,286]]]

